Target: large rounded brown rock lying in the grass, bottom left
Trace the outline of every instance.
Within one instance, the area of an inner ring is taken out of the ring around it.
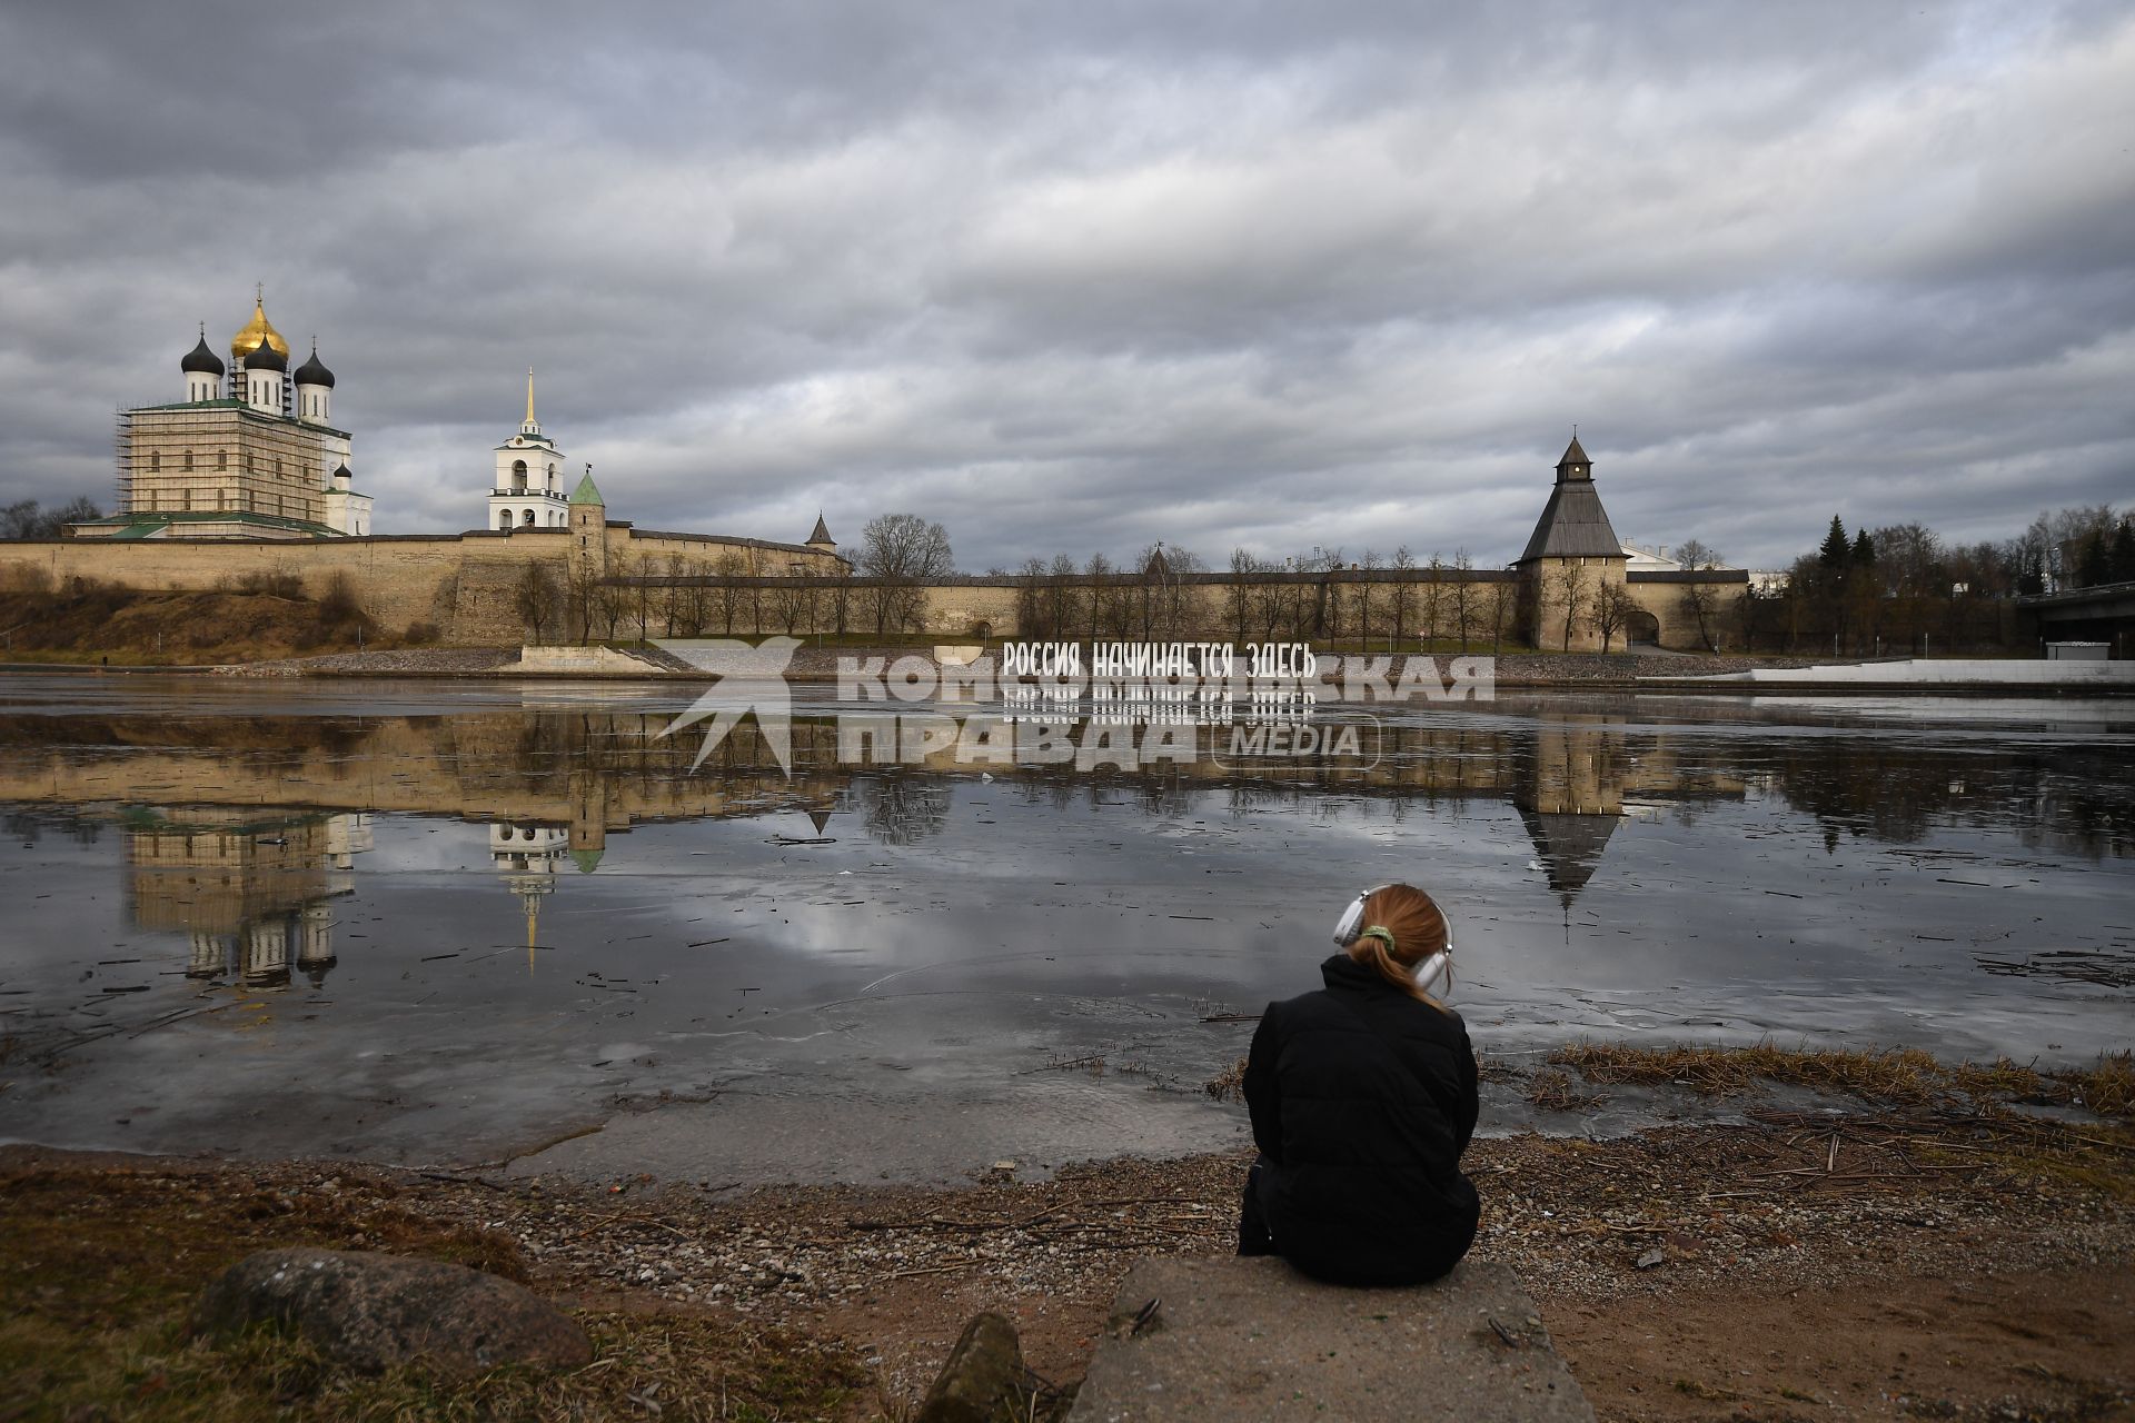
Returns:
[[[497,1276],[369,1250],[263,1250],[231,1265],[192,1310],[194,1333],[295,1327],[359,1370],[423,1359],[465,1378],[500,1363],[583,1365],[585,1329]]]

